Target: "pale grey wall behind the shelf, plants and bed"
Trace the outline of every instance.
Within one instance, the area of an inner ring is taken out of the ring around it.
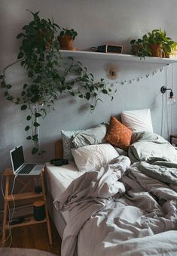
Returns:
[[[9,63],[17,60],[19,40],[16,35],[24,24],[32,19],[26,11],[40,11],[40,16],[51,18],[60,27],[74,28],[78,32],[74,46],[78,50],[85,50],[91,46],[106,43],[121,44],[124,46],[124,54],[130,53],[130,40],[142,37],[152,29],[166,29],[167,35],[177,41],[177,2],[176,0],[1,0],[0,1],[0,72]],[[41,146],[47,153],[42,161],[48,161],[54,156],[54,142],[60,138],[60,130],[74,130],[78,128],[90,128],[99,122],[108,121],[111,115],[117,116],[122,109],[151,109],[151,118],[154,132],[160,134],[162,114],[162,85],[172,87],[177,97],[177,64],[163,66],[151,63],[112,62],[111,60],[81,60],[96,79],[106,78],[105,69],[108,65],[116,64],[119,69],[119,79],[124,81],[152,72],[163,67],[162,72],[155,76],[143,79],[140,82],[127,85],[116,85],[117,93],[114,101],[103,97],[103,103],[99,103],[94,113],[90,113],[89,107],[85,107],[83,100],[75,97],[65,97],[55,103],[55,112],[50,113],[42,120]],[[172,76],[173,74],[173,76]],[[16,66],[9,72],[9,81],[20,88],[20,81],[24,76],[23,71]],[[25,113],[5,100],[0,89],[0,174],[5,167],[11,165],[9,150],[23,144],[27,161],[36,161],[31,156],[31,143],[26,140],[24,125]],[[177,132],[177,120],[175,113],[177,104],[172,109],[163,108],[164,120],[169,122],[169,132]],[[167,119],[166,113],[169,113]],[[172,114],[172,122],[171,122]],[[172,126],[172,127],[171,127]],[[163,136],[168,137],[166,122],[163,124]],[[38,159],[41,161],[41,159]]]

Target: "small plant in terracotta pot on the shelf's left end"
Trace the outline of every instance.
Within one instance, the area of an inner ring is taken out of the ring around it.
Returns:
[[[60,48],[63,50],[76,50],[76,48],[72,47],[72,43],[75,40],[75,37],[78,35],[74,29],[62,29],[60,31],[60,35],[58,36],[58,40],[60,42]]]

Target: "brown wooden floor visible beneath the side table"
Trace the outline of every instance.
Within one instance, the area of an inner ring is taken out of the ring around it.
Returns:
[[[49,244],[47,225],[37,224],[27,227],[16,227],[12,229],[12,244],[11,247],[16,248],[37,248],[42,251],[50,251],[53,254],[61,255],[61,239],[56,231],[56,227],[50,221],[53,245]],[[7,231],[8,233],[8,231]],[[5,246],[8,246],[6,242]]]

